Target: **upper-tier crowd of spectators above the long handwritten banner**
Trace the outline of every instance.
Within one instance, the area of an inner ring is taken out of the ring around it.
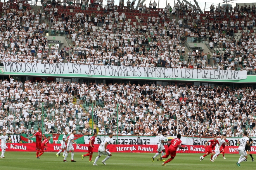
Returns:
[[[118,7],[107,9],[104,14],[80,11],[70,15],[59,13],[58,9],[63,7],[60,5],[47,4],[35,11],[28,10],[26,3],[18,4],[19,9],[10,9],[10,5],[3,3],[1,62],[247,70],[248,74],[255,74],[255,16],[251,15],[253,11],[249,13],[242,7],[234,9],[239,13],[239,20],[222,19],[224,10],[216,8],[210,14],[203,14],[204,23],[198,9],[184,3],[174,8],[168,4],[165,10],[157,11],[157,17],[140,16],[136,22],[127,18],[132,10],[118,12]],[[236,31],[240,31],[240,37],[234,36]],[[73,48],[49,47],[46,33],[72,39]],[[188,38],[192,42],[204,39],[212,55],[187,50]]]

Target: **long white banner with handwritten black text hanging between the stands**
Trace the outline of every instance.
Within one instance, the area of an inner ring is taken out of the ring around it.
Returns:
[[[101,75],[112,77],[139,78],[191,78],[211,80],[246,79],[246,71],[203,70],[189,68],[133,67],[133,66],[100,66],[78,65],[72,63],[21,63],[4,62],[4,72],[33,73],[45,75]]]

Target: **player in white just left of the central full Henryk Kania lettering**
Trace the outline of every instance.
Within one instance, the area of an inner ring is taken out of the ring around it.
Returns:
[[[96,166],[97,166],[96,163],[97,163],[97,161],[99,160],[99,158],[100,158],[101,155],[107,155],[106,158],[102,161],[102,163],[103,163],[104,165],[107,165],[107,164],[105,163],[106,160],[108,160],[108,159],[112,156],[112,154],[107,150],[107,145],[110,143],[111,138],[113,137],[113,134],[112,134],[112,133],[109,133],[108,135],[109,135],[109,137],[103,139],[102,143],[100,144],[99,149],[98,149],[98,156],[96,157],[96,159],[95,159],[93,165],[96,165]]]

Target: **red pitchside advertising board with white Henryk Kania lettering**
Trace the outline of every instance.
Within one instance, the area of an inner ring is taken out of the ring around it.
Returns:
[[[35,151],[35,143],[7,143],[6,151]],[[57,152],[61,149],[61,144],[48,144],[46,152]],[[80,144],[74,146],[75,152],[87,152],[88,144]],[[94,145],[93,152],[98,152],[99,144]],[[167,149],[167,145],[165,145]],[[203,145],[189,145],[187,149],[177,149],[177,153],[206,153],[207,148]],[[156,153],[157,145],[108,145],[107,148],[110,152],[123,152],[123,153]],[[225,153],[236,153],[238,146],[226,146]],[[1,151],[1,149],[0,149]],[[251,146],[251,153],[256,154],[256,146]]]

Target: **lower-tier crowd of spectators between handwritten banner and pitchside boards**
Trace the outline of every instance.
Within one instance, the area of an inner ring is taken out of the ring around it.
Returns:
[[[255,90],[177,85],[93,84],[1,80],[0,129],[10,134],[77,129],[127,135],[256,136]],[[92,114],[93,104],[93,114]],[[118,104],[118,122],[117,122]],[[85,107],[84,107],[85,106]],[[44,107],[44,113],[42,113]],[[93,115],[93,117],[92,117]],[[42,117],[43,116],[43,117]],[[92,127],[90,119],[95,121]]]

